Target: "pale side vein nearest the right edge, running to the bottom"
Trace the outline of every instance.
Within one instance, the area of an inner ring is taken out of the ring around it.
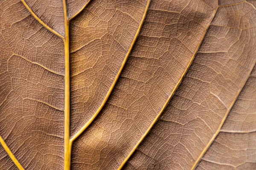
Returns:
[[[254,65],[255,65],[255,64],[254,64]],[[253,68],[252,68],[252,70],[253,70]],[[251,70],[251,71],[252,71],[252,70]],[[247,76],[247,80],[249,79],[249,77],[250,77],[250,74]],[[247,82],[247,80],[244,82],[244,85],[245,85],[245,83]],[[241,90],[242,90],[242,88],[241,88]],[[197,167],[198,163],[200,162],[200,160],[202,159],[202,157],[204,156],[204,154],[206,153],[206,151],[208,150],[208,148],[210,147],[210,145],[212,144],[212,142],[213,142],[213,141],[215,140],[215,138],[218,136],[218,133],[221,132],[221,127],[222,127],[222,125],[224,124],[224,122],[225,122],[225,120],[226,120],[226,118],[227,118],[228,113],[230,112],[231,108],[233,107],[234,103],[236,102],[236,99],[237,99],[237,97],[239,96],[241,90],[238,92],[238,94],[236,94],[235,99],[233,100],[233,102],[232,102],[230,108],[228,109],[228,111],[226,112],[224,118],[222,119],[221,124],[220,124],[220,126],[218,127],[216,133],[212,136],[212,138],[211,138],[211,140],[209,141],[209,143],[206,145],[206,147],[204,148],[204,150],[201,152],[200,156],[199,156],[198,159],[195,161],[195,164],[193,165],[193,167],[191,168],[191,170],[195,170],[195,168]]]

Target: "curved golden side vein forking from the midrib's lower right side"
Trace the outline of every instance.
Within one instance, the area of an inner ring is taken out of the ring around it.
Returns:
[[[143,23],[144,23],[144,20],[145,20],[145,17],[146,17],[146,14],[147,14],[148,7],[149,7],[150,2],[151,2],[151,0],[148,0],[147,6],[146,6],[145,11],[144,11],[144,14],[143,14],[143,18],[142,18],[141,23],[140,23],[140,26],[139,26],[139,28],[138,28],[138,30],[137,30],[137,32],[136,32],[136,35],[135,35],[135,37],[134,37],[134,40],[133,40],[133,42],[131,43],[131,46],[130,46],[130,48],[129,48],[129,50],[128,50],[128,53],[126,54],[125,59],[124,59],[124,61],[122,62],[122,65],[121,65],[121,67],[120,67],[120,69],[119,69],[119,71],[118,71],[118,73],[117,73],[117,75],[116,75],[116,78],[114,79],[113,84],[111,85],[111,88],[109,89],[109,91],[108,91],[108,93],[107,93],[105,99],[103,100],[102,104],[101,104],[100,107],[97,109],[97,111],[96,111],[96,112],[93,114],[93,116],[90,118],[90,120],[89,120],[88,122],[86,122],[86,123],[84,124],[84,126],[81,127],[81,129],[70,139],[70,143],[71,143],[71,144],[72,144],[72,142],[73,142],[79,135],[81,135],[81,133],[83,133],[83,131],[93,122],[93,120],[96,118],[96,116],[99,114],[99,112],[102,110],[103,106],[104,106],[105,103],[107,102],[108,97],[110,96],[110,94],[111,94],[111,92],[112,92],[112,90],[113,90],[113,88],[114,88],[114,86],[115,86],[115,84],[116,84],[116,82],[117,82],[117,79],[118,79],[118,77],[120,76],[120,74],[121,74],[121,72],[122,72],[122,69],[123,69],[124,66],[125,66],[125,62],[127,61],[128,56],[130,55],[131,50],[132,50],[132,48],[133,48],[133,46],[134,46],[134,44],[135,44],[135,42],[136,42],[136,40],[137,40],[137,37],[138,37],[138,35],[139,35],[139,33],[140,33],[140,30],[141,30],[141,28],[142,28],[142,26],[143,26]]]

